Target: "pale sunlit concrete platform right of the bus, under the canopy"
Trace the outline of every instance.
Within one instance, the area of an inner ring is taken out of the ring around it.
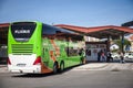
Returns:
[[[133,63],[90,63],[72,70],[133,70]]]

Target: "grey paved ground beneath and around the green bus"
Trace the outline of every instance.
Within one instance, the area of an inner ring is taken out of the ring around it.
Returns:
[[[0,65],[0,88],[133,88],[133,63],[88,63],[53,74],[11,74]]]

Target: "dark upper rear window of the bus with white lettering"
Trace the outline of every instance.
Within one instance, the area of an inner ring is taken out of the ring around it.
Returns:
[[[37,24],[34,22],[18,22],[11,24],[11,33],[16,41],[27,42],[33,34]]]

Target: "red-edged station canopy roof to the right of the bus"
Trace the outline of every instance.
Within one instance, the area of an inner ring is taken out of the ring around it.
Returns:
[[[133,29],[131,28],[115,26],[115,25],[83,28],[83,26],[74,26],[74,25],[66,25],[66,24],[57,24],[55,26],[75,31],[78,33],[98,37],[98,38],[106,38],[110,36],[112,38],[116,38],[116,37],[120,37],[120,35],[133,33]]]

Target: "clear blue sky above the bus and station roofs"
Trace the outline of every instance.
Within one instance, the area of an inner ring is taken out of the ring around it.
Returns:
[[[0,23],[41,21],[79,26],[133,20],[133,0],[0,0]]]

